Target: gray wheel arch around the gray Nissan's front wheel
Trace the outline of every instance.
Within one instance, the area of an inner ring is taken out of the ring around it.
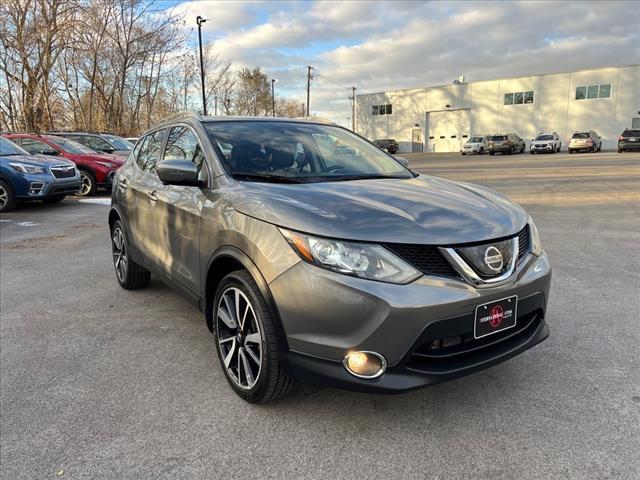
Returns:
[[[271,317],[274,321],[274,326],[278,333],[278,342],[280,349],[285,352],[288,351],[289,347],[287,343],[287,337],[282,326],[282,321],[280,320],[278,307],[273,298],[273,295],[271,294],[269,285],[262,276],[262,273],[260,272],[256,264],[253,263],[251,258],[249,258],[246,253],[236,247],[220,247],[209,259],[209,263],[207,265],[207,273],[204,278],[204,291],[202,292],[201,296],[204,302],[203,310],[205,312],[207,327],[211,332],[213,332],[213,302],[218,285],[226,275],[235,270],[241,269],[248,271],[258,285],[260,293],[264,297],[267,303],[267,308],[269,309],[269,313],[271,314]]]

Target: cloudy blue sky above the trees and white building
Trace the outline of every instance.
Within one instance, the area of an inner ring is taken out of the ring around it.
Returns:
[[[190,41],[235,68],[260,66],[276,94],[347,125],[351,87],[371,93],[640,63],[637,2],[175,1]]]

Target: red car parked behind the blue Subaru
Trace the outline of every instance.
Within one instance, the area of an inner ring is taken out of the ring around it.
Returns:
[[[113,176],[123,164],[115,155],[97,153],[67,138],[30,133],[4,135],[32,155],[59,155],[72,160],[82,178],[80,195],[93,195],[98,188],[111,189]]]

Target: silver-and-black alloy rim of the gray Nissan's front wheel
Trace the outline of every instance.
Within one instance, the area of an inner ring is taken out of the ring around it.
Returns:
[[[216,336],[224,368],[243,390],[252,389],[262,369],[262,331],[247,296],[236,287],[220,296]]]

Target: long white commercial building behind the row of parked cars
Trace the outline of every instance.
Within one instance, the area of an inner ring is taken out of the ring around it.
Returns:
[[[358,95],[356,131],[394,138],[400,152],[457,152],[470,135],[515,132],[527,143],[558,132],[563,149],[577,130],[616,148],[640,128],[640,65],[580,70]]]

